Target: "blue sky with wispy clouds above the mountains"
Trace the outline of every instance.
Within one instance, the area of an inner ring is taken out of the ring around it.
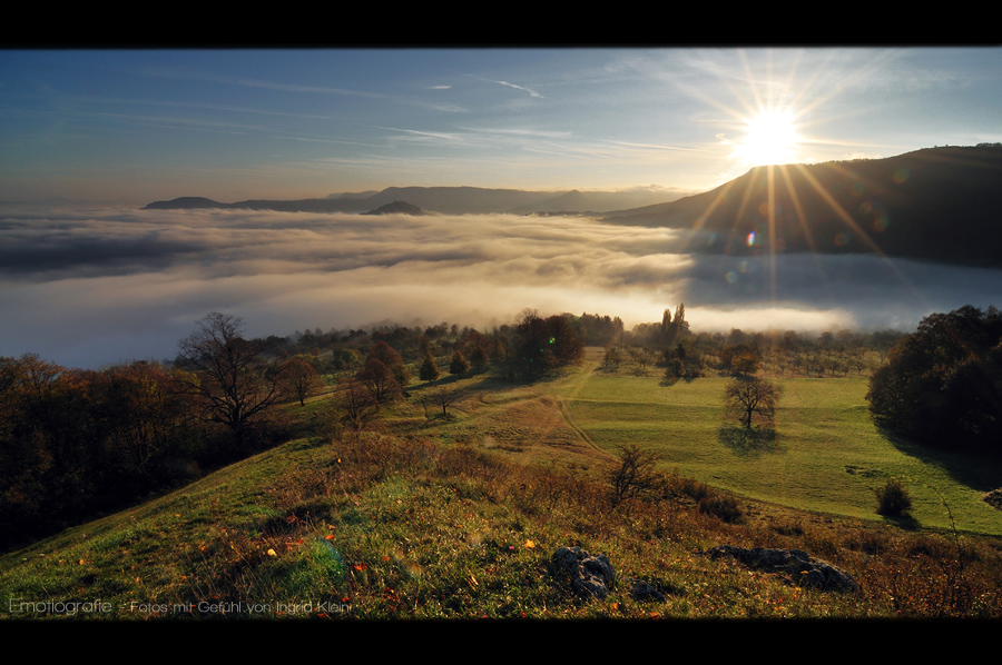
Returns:
[[[389,186],[706,190],[784,158],[1002,141],[999,48],[0,51],[0,200]]]

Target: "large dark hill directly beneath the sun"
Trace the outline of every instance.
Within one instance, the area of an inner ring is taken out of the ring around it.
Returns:
[[[1002,267],[1002,147],[930,148],[772,171],[756,167],[711,191],[603,220],[688,229],[689,246],[704,252],[775,247]]]

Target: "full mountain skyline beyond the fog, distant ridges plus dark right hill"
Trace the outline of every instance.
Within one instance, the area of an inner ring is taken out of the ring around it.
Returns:
[[[710,254],[865,252],[1002,268],[1002,145],[756,167],[681,198],[664,190],[390,187],[294,201],[185,197],[145,209],[406,214],[411,207],[444,215],[590,214],[609,224],[685,229],[692,251]]]

